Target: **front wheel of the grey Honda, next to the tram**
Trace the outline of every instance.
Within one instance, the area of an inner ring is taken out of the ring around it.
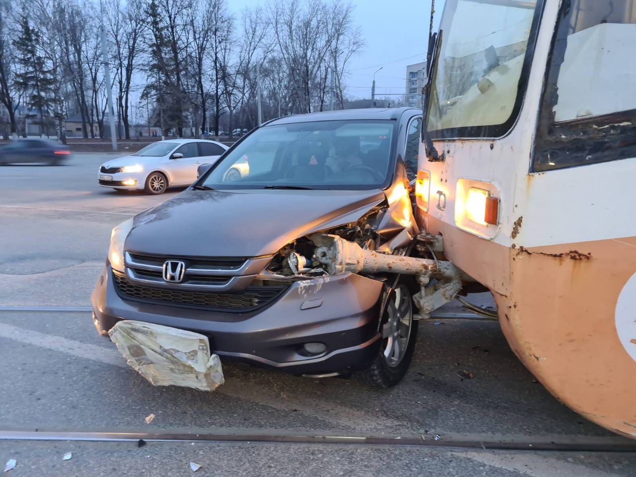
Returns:
[[[356,373],[356,377],[366,385],[383,389],[393,387],[402,380],[411,365],[418,322],[413,319],[413,287],[410,285],[404,280],[391,291],[380,322],[380,351],[369,368]]]

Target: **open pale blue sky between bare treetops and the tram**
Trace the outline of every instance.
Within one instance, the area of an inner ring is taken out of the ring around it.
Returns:
[[[406,66],[424,61],[431,0],[350,0],[354,6],[354,24],[361,28],[366,45],[350,60],[347,93],[354,98],[371,98],[373,72],[375,94],[401,93],[406,88]],[[237,16],[245,6],[266,6],[267,0],[229,0]],[[437,22],[443,0],[436,1]],[[389,98],[396,99],[396,96]]]

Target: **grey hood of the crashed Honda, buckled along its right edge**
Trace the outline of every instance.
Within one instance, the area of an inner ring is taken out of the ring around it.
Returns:
[[[128,251],[165,256],[272,255],[308,233],[354,222],[380,190],[187,190],[135,216]]]

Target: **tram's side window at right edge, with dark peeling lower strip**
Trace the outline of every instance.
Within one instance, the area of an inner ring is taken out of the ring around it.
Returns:
[[[533,170],[635,157],[636,0],[573,0],[555,36]]]

